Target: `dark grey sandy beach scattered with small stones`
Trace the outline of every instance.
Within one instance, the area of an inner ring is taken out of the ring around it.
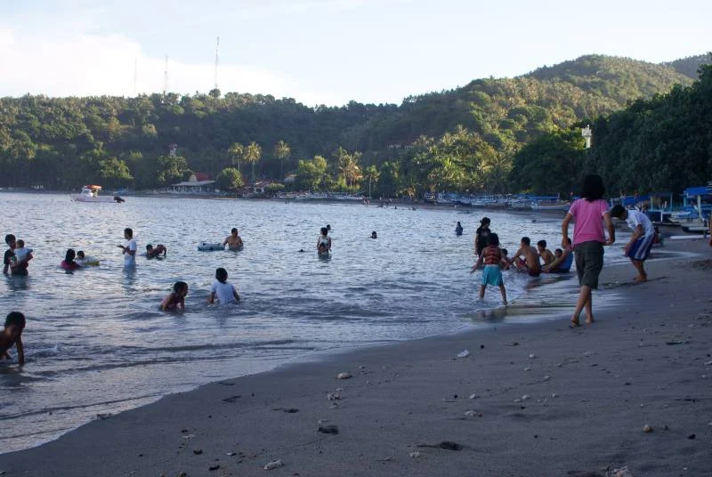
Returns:
[[[712,249],[665,249],[701,256],[651,261],[637,286],[632,266],[605,268],[622,299],[593,327],[500,325],[208,384],[4,454],[0,472],[711,475]]]

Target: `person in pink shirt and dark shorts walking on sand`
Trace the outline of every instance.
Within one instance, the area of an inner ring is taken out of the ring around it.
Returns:
[[[603,179],[598,174],[584,178],[581,198],[571,204],[562,222],[562,247],[568,245],[569,224],[576,221],[573,228],[573,252],[578,275],[578,300],[571,316],[571,327],[578,327],[581,311],[586,310],[586,323],[594,322],[594,306],[591,290],[598,287],[598,276],[603,269],[603,246],[616,241],[608,204],[603,200]],[[606,239],[603,223],[608,229]]]

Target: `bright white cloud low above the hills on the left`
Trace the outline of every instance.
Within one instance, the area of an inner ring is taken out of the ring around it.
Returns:
[[[134,95],[163,90],[164,58],[150,57],[141,44],[125,36],[66,31],[19,31],[0,26],[0,96],[25,93],[48,96]],[[168,59],[168,91],[206,93],[214,87],[214,64]],[[249,65],[221,65],[218,87],[223,93],[294,97],[308,105],[344,104],[330,93],[301,87],[279,71]]]

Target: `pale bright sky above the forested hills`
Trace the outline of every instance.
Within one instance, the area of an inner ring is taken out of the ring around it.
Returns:
[[[0,0],[0,97],[168,91],[396,103],[601,53],[712,50],[712,2]]]

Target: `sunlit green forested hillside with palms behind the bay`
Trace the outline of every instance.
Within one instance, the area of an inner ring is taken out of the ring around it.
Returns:
[[[226,190],[292,173],[299,189],[372,189],[373,195],[568,192],[571,174],[590,162],[581,152],[580,133],[567,129],[592,122],[601,145],[595,154],[604,154],[598,151],[611,143],[607,135],[623,120],[603,115],[637,98],[652,98],[636,101],[637,108],[664,102],[656,94],[674,85],[671,94],[682,97],[691,83],[673,66],[591,55],[522,77],[479,79],[409,97],[400,106],[352,101],[308,108],[287,98],[217,90],[135,98],[2,98],[0,186],[67,190],[97,182],[150,189],[200,171]],[[559,162],[544,161],[537,174],[566,175],[569,182],[530,180],[539,169],[530,160],[541,162],[531,148],[544,151],[547,143],[559,148],[554,155]],[[168,154],[171,144],[177,145],[175,155]],[[578,151],[570,157],[573,168],[565,161],[567,144]],[[656,157],[667,158],[660,154]],[[610,174],[627,181],[618,170]],[[665,174],[660,177],[665,181]]]

